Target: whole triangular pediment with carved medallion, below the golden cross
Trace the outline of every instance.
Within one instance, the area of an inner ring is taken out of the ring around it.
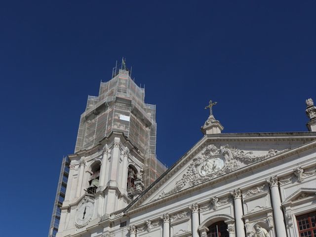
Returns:
[[[315,137],[307,139],[308,142],[313,140]],[[260,161],[280,156],[303,144],[304,139],[301,137],[293,139],[267,136],[253,139],[233,137],[232,134],[216,138],[204,136],[142,195],[130,203],[126,210],[176,196],[177,193],[202,183],[211,183],[249,165],[262,164]]]

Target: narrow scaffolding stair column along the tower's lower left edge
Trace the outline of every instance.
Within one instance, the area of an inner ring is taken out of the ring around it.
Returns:
[[[57,192],[56,192],[54,208],[53,208],[53,214],[52,214],[50,226],[49,226],[48,237],[55,237],[58,232],[58,226],[59,226],[60,215],[61,215],[60,207],[62,207],[64,199],[65,199],[68,176],[69,176],[69,158],[64,157],[62,165],[61,165]]]

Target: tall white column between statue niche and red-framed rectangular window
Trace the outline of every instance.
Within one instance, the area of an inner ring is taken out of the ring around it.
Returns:
[[[270,185],[271,190],[271,199],[272,199],[272,207],[273,214],[275,217],[276,224],[276,236],[277,237],[286,237],[286,230],[284,225],[284,218],[281,206],[280,193],[278,192],[278,181],[277,177],[271,177],[267,182]]]

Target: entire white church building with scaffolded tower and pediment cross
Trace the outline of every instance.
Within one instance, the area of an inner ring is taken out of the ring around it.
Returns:
[[[156,158],[156,107],[122,61],[81,115],[49,237],[316,237],[316,107],[306,132],[202,138],[172,167]]]

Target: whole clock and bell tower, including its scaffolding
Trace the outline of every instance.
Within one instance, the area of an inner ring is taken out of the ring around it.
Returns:
[[[109,219],[165,171],[156,157],[156,106],[144,98],[124,59],[99,95],[88,96],[75,153],[63,160],[49,237]]]

